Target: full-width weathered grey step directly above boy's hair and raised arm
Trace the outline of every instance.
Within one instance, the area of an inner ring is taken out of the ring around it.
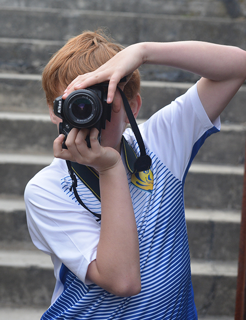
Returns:
[[[63,41],[107,26],[120,43],[193,39],[246,48],[244,19],[1,6],[0,21],[0,37]]]

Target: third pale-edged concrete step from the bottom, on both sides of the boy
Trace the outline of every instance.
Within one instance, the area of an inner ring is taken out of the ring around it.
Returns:
[[[191,258],[238,259],[241,221],[239,211],[186,208],[185,216]],[[0,197],[0,249],[33,248],[23,197]]]

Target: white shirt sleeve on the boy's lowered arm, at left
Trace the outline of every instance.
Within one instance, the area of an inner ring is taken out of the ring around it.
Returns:
[[[88,284],[85,278],[89,264],[96,258],[100,224],[62,191],[60,173],[54,167],[39,172],[25,190],[31,239],[38,249],[57,256]]]

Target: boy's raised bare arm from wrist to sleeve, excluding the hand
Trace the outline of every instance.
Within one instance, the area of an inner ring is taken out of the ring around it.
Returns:
[[[160,63],[161,48],[146,59]],[[211,121],[223,111],[246,79],[246,52],[236,47],[184,41],[167,44],[167,65],[200,75],[198,95]]]

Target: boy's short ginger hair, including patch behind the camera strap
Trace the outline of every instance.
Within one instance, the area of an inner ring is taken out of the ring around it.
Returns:
[[[96,70],[102,64],[123,50],[123,46],[102,29],[85,31],[70,40],[55,53],[42,74],[42,86],[47,103],[53,105],[57,96],[78,75]],[[140,74],[135,70],[124,87],[124,94],[131,100],[140,91]]]

